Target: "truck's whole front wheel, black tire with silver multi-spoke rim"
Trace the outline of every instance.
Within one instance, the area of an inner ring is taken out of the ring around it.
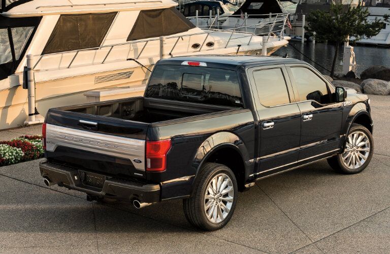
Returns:
[[[360,173],[368,166],[374,152],[372,135],[365,126],[352,123],[346,139],[343,152],[329,158],[328,163],[343,174]]]

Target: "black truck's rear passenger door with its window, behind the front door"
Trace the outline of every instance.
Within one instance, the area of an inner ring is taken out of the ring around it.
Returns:
[[[250,70],[252,90],[258,114],[257,169],[259,178],[286,168],[298,161],[301,113],[284,66]],[[256,102],[257,101],[257,102]]]

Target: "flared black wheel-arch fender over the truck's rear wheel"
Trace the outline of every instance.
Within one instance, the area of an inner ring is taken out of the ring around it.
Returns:
[[[215,151],[223,148],[233,148],[240,155],[245,164],[245,175],[250,168],[250,158],[248,149],[244,142],[234,133],[231,132],[218,132],[208,137],[198,148],[196,155],[193,158],[192,167],[197,169],[195,179],[198,176],[200,169],[204,162],[207,161]]]

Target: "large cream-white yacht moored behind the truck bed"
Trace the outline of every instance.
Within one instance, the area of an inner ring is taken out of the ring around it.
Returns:
[[[161,57],[260,54],[262,37],[202,30],[176,5],[171,0],[3,0],[0,129],[27,119],[28,94],[22,87],[27,55],[34,63],[36,114],[45,116],[49,108],[87,102],[89,90],[128,87],[132,96],[142,95]],[[269,54],[287,43],[270,36]]]

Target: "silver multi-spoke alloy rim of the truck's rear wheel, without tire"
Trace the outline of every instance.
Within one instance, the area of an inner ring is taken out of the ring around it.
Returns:
[[[218,174],[209,182],[204,208],[207,218],[212,223],[220,223],[228,216],[234,200],[232,180],[226,174]]]

